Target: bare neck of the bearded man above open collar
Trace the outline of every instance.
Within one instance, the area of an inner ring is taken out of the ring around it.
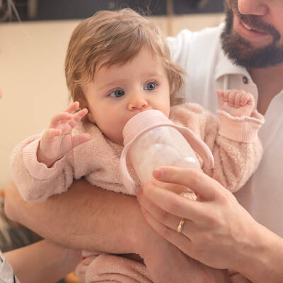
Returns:
[[[283,89],[283,64],[248,72],[258,87],[258,112],[265,115],[272,98]]]

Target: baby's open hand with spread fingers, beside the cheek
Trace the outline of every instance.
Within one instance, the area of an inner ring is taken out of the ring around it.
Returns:
[[[54,115],[50,127],[40,138],[40,145],[37,149],[37,161],[45,163],[47,167],[62,158],[71,149],[91,139],[90,134],[76,134],[71,136],[71,130],[78,122],[86,116],[88,110],[84,108],[74,113],[79,108],[79,103],[74,102],[64,111]]]

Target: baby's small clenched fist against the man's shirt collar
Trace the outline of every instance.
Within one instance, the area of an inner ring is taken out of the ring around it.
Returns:
[[[251,93],[232,89],[217,91],[219,110],[224,110],[235,117],[250,116],[255,107],[255,98]]]

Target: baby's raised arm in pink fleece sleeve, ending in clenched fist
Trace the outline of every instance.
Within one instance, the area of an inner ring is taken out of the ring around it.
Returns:
[[[264,118],[245,91],[218,91],[219,123],[207,117],[204,141],[212,149],[215,166],[203,168],[231,192],[240,189],[253,174],[262,157],[258,130]]]

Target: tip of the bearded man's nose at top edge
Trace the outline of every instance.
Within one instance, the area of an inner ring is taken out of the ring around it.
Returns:
[[[243,15],[265,16],[268,11],[270,0],[238,0],[238,10]]]

